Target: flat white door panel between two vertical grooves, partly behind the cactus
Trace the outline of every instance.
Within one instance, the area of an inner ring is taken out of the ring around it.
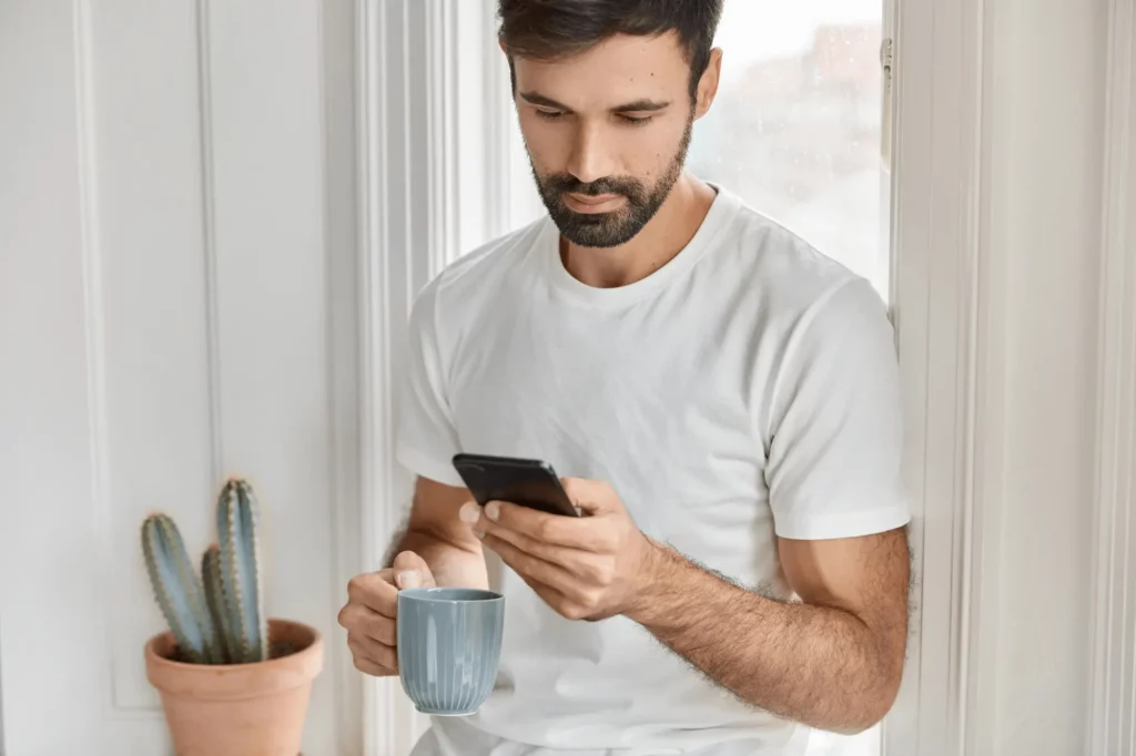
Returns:
[[[108,522],[98,554],[109,570],[99,594],[117,608],[106,612],[114,706],[156,712],[139,649],[164,620],[145,600],[139,524],[149,511],[172,511],[191,553],[214,528],[197,24],[186,2],[89,8],[98,269],[86,317],[98,353],[87,369],[101,372],[95,497]]]

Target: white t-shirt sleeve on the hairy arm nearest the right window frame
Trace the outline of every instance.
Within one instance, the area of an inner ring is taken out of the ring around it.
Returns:
[[[907,524],[902,457],[892,324],[855,278],[801,318],[775,379],[766,484],[776,534],[847,538]]]

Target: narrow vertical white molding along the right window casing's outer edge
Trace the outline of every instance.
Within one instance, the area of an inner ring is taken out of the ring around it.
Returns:
[[[952,624],[960,637],[958,655],[959,712],[952,733],[952,754],[996,756],[996,706],[999,691],[1001,543],[1005,501],[1004,459],[1009,250],[1000,185],[1006,175],[1000,160],[1012,138],[1001,124],[993,125],[994,103],[1009,90],[1001,65],[1005,48],[1001,10],[1004,5],[976,0],[969,39],[978,49],[971,75],[977,79],[977,109],[971,114],[972,185],[969,196],[970,244],[968,254],[968,384],[960,417],[967,418],[967,453],[963,473],[961,596]],[[1000,177],[1000,178],[996,178]]]

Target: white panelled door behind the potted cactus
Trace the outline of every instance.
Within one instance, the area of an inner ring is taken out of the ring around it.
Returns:
[[[139,526],[200,554],[229,474],[268,612],[327,640],[304,753],[341,753],[319,12],[0,2],[6,756],[172,753]]]

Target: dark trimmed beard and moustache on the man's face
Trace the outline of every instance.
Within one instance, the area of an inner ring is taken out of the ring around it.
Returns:
[[[588,183],[579,180],[571,174],[541,176],[529,156],[529,166],[541,201],[560,229],[561,236],[577,246],[590,247],[612,247],[632,241],[654,218],[682,175],[686,152],[691,146],[693,125],[692,114],[670,165],[662,177],[651,186],[629,176],[612,176]],[[627,203],[611,212],[576,212],[565,204],[563,195],[569,193],[592,196],[618,194],[625,198]]]

